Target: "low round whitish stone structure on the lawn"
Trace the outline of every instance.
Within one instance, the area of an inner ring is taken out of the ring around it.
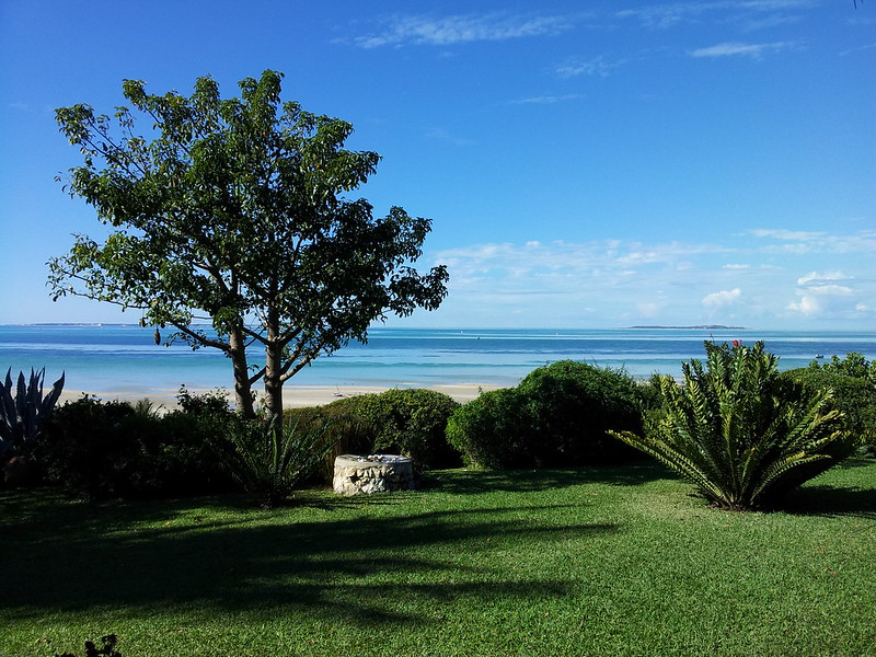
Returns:
[[[359,495],[413,488],[414,461],[394,454],[343,454],[335,458],[335,493]]]

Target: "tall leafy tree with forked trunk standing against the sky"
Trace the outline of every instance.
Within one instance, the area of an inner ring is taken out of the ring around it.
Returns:
[[[84,160],[65,188],[115,230],[103,243],[76,235],[49,262],[54,298],[135,309],[157,342],[171,326],[168,343],[222,350],[247,416],[260,379],[266,410],[279,413],[283,384],[319,355],[447,295],[446,267],[413,268],[430,220],[399,207],[374,218],[367,200],[345,198],[380,155],[344,149],[350,124],[281,103],[281,78],[247,78],[229,100],[209,77],[191,97],[125,80],[134,110],[116,107],[115,120],[84,104],[56,111]]]

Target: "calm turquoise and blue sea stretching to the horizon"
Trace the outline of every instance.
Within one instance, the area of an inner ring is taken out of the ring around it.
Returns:
[[[681,361],[703,357],[703,341],[766,343],[780,368],[805,367],[816,355],[860,351],[876,358],[876,332],[805,333],[752,330],[612,328],[372,328],[367,345],[353,343],[316,359],[291,384],[428,387],[448,383],[514,385],[532,369],[563,359],[633,376],[681,373]],[[255,354],[254,354],[255,355]],[[155,346],[138,325],[0,326],[0,376],[46,368],[50,383],[67,372],[67,389],[148,393],[232,388],[231,366],[212,349]]]

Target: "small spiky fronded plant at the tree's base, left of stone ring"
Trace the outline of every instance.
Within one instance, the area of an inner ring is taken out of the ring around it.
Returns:
[[[275,416],[232,423],[214,447],[246,494],[273,508],[320,468],[333,446],[323,428],[301,430]]]

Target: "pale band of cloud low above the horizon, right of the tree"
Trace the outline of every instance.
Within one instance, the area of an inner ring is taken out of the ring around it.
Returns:
[[[752,232],[760,235],[753,247]],[[602,325],[644,320],[758,326],[845,318],[862,321],[871,315],[876,320],[876,280],[862,276],[871,262],[868,254],[832,251],[852,243],[860,250],[871,237],[783,229],[750,231],[741,241],[739,237],[728,237],[726,244],[487,243],[433,255],[451,273],[446,312],[457,313],[458,323],[477,323],[483,314],[486,325],[496,313],[526,318],[533,325],[545,319],[574,325],[585,316],[599,318]],[[760,240],[768,244],[758,244]],[[774,254],[769,250],[774,241],[825,247],[819,258],[827,266],[812,270],[810,253]]]

